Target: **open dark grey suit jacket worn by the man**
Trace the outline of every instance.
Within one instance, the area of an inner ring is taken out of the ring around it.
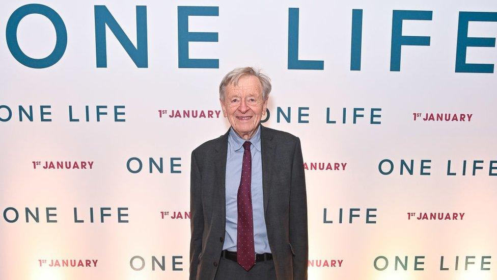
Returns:
[[[214,279],[226,225],[228,132],[191,152],[190,280]],[[306,179],[300,140],[261,124],[267,238],[277,279],[307,279]]]

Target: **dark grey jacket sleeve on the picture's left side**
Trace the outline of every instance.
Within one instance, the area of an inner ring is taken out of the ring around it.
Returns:
[[[190,168],[190,280],[195,280],[199,255],[202,251],[202,234],[204,232],[204,211],[202,207],[202,177],[195,157],[191,152]]]

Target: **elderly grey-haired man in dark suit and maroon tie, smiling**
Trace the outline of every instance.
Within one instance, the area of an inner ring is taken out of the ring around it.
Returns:
[[[252,67],[219,86],[231,128],[191,153],[190,280],[307,279],[300,140],[260,123],[270,91]]]

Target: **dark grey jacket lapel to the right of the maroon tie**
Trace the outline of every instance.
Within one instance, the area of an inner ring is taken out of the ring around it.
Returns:
[[[276,150],[272,142],[273,134],[261,124],[261,156],[262,156],[262,192],[264,197],[264,214],[267,210],[267,203],[271,193],[272,174],[274,163],[274,152]]]

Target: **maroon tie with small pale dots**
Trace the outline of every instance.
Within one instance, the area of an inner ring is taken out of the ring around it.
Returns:
[[[256,263],[254,249],[254,220],[252,217],[252,155],[251,142],[243,143],[243,162],[241,167],[240,187],[238,188],[238,224],[236,234],[236,260],[246,271]]]

